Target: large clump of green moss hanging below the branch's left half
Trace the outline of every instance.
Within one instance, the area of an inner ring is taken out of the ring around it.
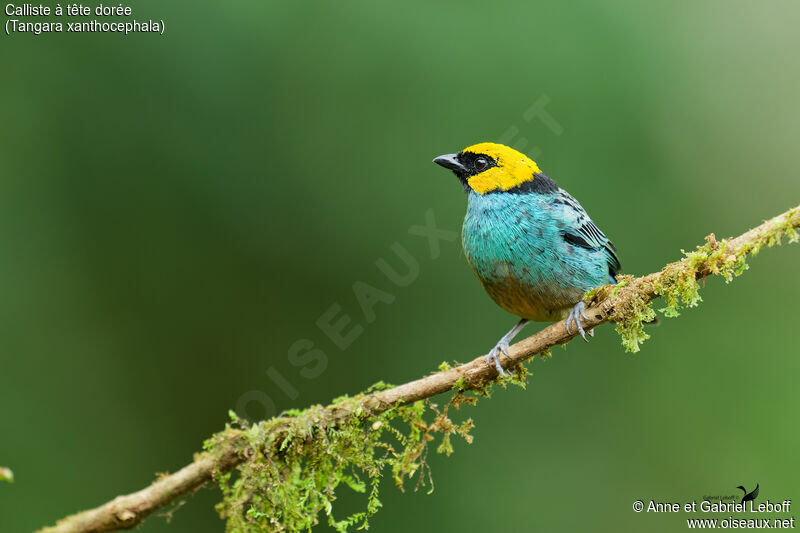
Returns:
[[[371,390],[386,387],[379,383]],[[420,401],[378,415],[364,414],[367,398],[366,393],[341,397],[327,408],[313,406],[256,424],[231,412],[225,431],[205,443],[211,454],[234,445],[244,459],[233,474],[217,478],[223,496],[217,511],[226,520],[225,531],[308,531],[321,519],[337,531],[366,529],[381,508],[379,486],[387,472],[401,489],[414,476],[424,485],[430,482],[425,457],[436,433],[442,435],[437,451],[446,455],[453,452],[453,435],[472,442],[472,420],[455,423],[448,412],[474,403],[474,397],[458,392],[441,410]],[[343,484],[363,493],[366,502],[363,511],[337,518],[334,502]]]

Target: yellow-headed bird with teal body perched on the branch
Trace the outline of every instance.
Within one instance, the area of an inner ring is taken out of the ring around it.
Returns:
[[[501,376],[500,353],[529,322],[564,318],[567,333],[586,316],[583,295],[616,284],[620,261],[612,242],[567,191],[528,156],[482,142],[436,157],[467,194],[461,244],[472,271],[501,308],[520,317],[486,355]],[[594,331],[589,331],[594,336]]]

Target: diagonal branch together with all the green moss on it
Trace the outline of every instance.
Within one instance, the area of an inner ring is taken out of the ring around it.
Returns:
[[[698,280],[718,275],[730,281],[747,268],[747,256],[780,244],[784,237],[797,242],[798,228],[800,206],[734,239],[718,241],[709,235],[704,245],[659,272],[638,278],[623,276],[616,286],[589,291],[589,318],[584,327],[613,321],[625,348],[636,352],[648,338],[642,324],[656,316],[652,300],[664,297],[666,307],[659,311],[666,317],[677,316],[680,308],[693,307],[700,301]],[[509,356],[503,357],[503,366],[514,369],[512,381],[521,383],[526,373],[523,362],[537,354],[545,357],[550,348],[574,337],[574,333],[567,333],[563,321],[552,324],[512,346]],[[314,406],[253,425],[232,414],[233,423],[211,437],[205,451],[196,454],[188,466],[138,492],[69,516],[41,533],[130,529],[209,481],[219,483],[223,490],[224,500],[218,510],[228,520],[230,532],[307,530],[317,523],[319,513],[326,514],[336,529],[346,531],[355,523],[365,522],[380,507],[377,487],[384,467],[391,467],[402,488],[403,480],[415,472],[424,476],[424,456],[434,432],[443,434],[439,451],[448,454],[452,451],[451,435],[471,440],[471,420],[453,423],[448,408],[474,403],[475,397],[466,394],[486,395],[493,383],[505,384],[498,382],[494,367],[479,356],[455,367],[443,364],[439,372],[404,385],[379,384],[328,406]],[[455,393],[444,409],[430,403],[430,398],[451,391]],[[435,412],[431,423],[423,418],[427,408]],[[398,421],[408,425],[407,433],[393,426]],[[236,476],[232,477],[234,472]],[[335,521],[331,503],[339,483],[359,492],[367,490],[359,472],[370,479],[367,509]]]

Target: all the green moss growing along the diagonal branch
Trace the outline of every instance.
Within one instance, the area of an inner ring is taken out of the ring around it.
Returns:
[[[598,287],[585,298],[597,302],[616,297],[610,318],[616,322],[625,349],[638,352],[649,338],[644,325],[655,318],[654,297],[664,297],[665,307],[660,311],[667,317],[697,306],[702,301],[698,279],[704,281],[704,276],[714,274],[730,281],[747,269],[747,255],[780,244],[783,237],[797,242],[791,223],[794,215],[790,213],[774,228],[759,232],[735,253],[728,251],[727,241],[718,242],[711,235],[704,246],[686,253],[683,260],[668,265],[659,275],[620,276],[616,286]],[[542,359],[550,356],[549,350],[541,354]],[[442,363],[439,370],[452,368]],[[509,370],[513,375],[496,383],[524,387],[529,376],[526,367],[518,364]],[[233,446],[242,459],[232,473],[216,476],[223,494],[217,510],[226,520],[226,532],[308,531],[320,520],[337,531],[368,528],[369,518],[381,508],[379,488],[384,476],[391,472],[401,490],[413,477],[418,478],[417,487],[432,487],[425,459],[435,435],[441,434],[436,450],[445,455],[453,452],[453,436],[472,442],[472,420],[456,423],[450,412],[463,404],[474,405],[478,397],[488,397],[492,384],[467,383],[461,378],[441,409],[430,401],[419,401],[371,414],[374,398],[369,393],[390,387],[377,383],[363,394],[337,398],[328,407],[292,410],[256,424],[231,413],[225,431],[205,444],[207,453],[217,457]],[[362,511],[336,518],[334,503],[342,485],[363,494],[366,501]]]

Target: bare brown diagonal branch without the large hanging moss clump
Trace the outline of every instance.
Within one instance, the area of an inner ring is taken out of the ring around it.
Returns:
[[[584,328],[588,330],[609,320],[614,321],[626,348],[637,351],[639,344],[647,338],[642,323],[655,316],[650,307],[653,299],[663,296],[667,303],[665,314],[674,316],[679,307],[696,305],[699,300],[697,280],[720,275],[730,281],[747,267],[745,258],[748,255],[755,255],[764,247],[780,244],[784,236],[789,238],[789,242],[796,242],[798,228],[800,205],[734,239],[717,241],[713,234],[709,235],[703,246],[659,272],[639,278],[622,276],[616,286],[605,286],[587,293],[589,318],[583,321]],[[564,321],[557,322],[513,345],[509,349],[509,356],[503,357],[501,362],[504,367],[515,367],[537,354],[546,353],[553,346],[569,342],[575,336],[575,333],[567,333]],[[311,426],[336,425],[354,413],[366,418],[454,389],[480,390],[497,379],[495,368],[486,363],[484,356],[479,356],[469,363],[416,381],[358,397],[357,401],[310,409],[309,414],[304,415],[306,419],[303,423]],[[278,434],[296,421],[296,417],[272,419],[269,431]],[[247,454],[242,450],[248,442],[245,433],[242,429],[229,428],[219,434],[222,445],[213,454],[197,454],[191,464],[162,477],[149,487],[64,518],[53,527],[40,530],[40,533],[95,533],[133,528],[155,510],[209,481],[219,479],[219,475],[244,462]]]

